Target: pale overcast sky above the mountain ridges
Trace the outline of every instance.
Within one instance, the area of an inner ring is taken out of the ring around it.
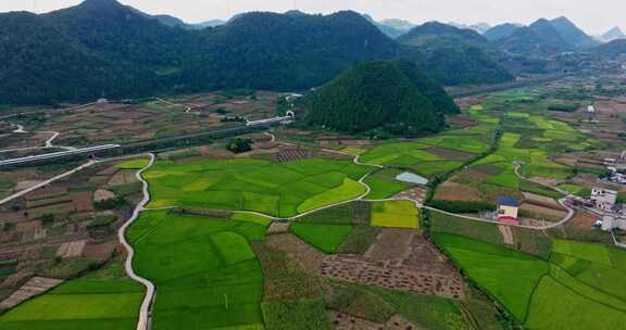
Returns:
[[[26,10],[48,12],[82,0],[0,0],[0,12]],[[587,33],[598,35],[614,26],[626,29],[623,0],[120,0],[151,14],[171,14],[188,23],[227,20],[248,11],[333,13],[354,10],[376,20],[402,18],[420,24],[428,21],[491,25],[529,24],[537,18],[567,16]]]

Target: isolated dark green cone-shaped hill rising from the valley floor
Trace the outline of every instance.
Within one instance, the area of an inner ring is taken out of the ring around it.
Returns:
[[[459,109],[410,62],[360,64],[325,84],[308,100],[306,120],[327,129],[418,136],[441,130],[443,113]]]

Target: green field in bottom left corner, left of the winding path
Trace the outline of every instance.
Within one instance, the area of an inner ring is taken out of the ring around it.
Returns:
[[[143,285],[112,264],[11,309],[0,316],[0,329],[134,330],[143,294]]]

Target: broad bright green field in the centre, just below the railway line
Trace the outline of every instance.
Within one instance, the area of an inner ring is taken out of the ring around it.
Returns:
[[[365,193],[356,182],[372,168],[324,158],[290,163],[238,158],[176,164],[158,162],[146,178],[149,207],[189,206],[291,217]]]

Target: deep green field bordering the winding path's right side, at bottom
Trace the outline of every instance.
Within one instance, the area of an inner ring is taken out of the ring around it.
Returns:
[[[159,291],[152,329],[262,329],[263,275],[249,242],[264,232],[250,221],[142,213],[127,237],[135,269]]]

